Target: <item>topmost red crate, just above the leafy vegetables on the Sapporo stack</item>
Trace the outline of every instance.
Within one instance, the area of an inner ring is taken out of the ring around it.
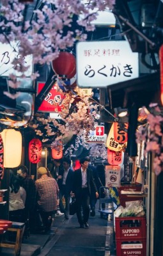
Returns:
[[[120,197],[120,204],[123,207],[126,207],[126,202],[129,201],[136,201],[136,200],[143,200],[142,197],[139,196],[130,196],[121,194],[121,190],[124,191],[141,191],[142,185],[141,184],[130,184],[130,185],[124,185],[118,188],[118,194]]]

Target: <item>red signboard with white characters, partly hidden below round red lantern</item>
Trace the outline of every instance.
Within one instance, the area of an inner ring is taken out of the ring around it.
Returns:
[[[45,83],[38,83],[37,92],[40,93]],[[61,100],[65,98],[65,95],[56,90],[54,84],[47,96],[43,100],[42,104],[38,108],[40,112],[61,112],[64,106],[61,104]]]

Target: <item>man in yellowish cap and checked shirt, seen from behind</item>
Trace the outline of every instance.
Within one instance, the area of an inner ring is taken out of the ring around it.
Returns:
[[[52,225],[52,214],[57,209],[57,198],[59,195],[58,184],[55,179],[47,175],[47,168],[38,168],[38,179],[36,180],[37,206],[42,217],[45,232],[50,230]]]

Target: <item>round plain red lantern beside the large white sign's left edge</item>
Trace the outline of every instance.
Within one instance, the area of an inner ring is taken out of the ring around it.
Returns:
[[[52,69],[59,77],[71,79],[76,74],[76,60],[70,52],[59,52],[58,58],[52,61]]]

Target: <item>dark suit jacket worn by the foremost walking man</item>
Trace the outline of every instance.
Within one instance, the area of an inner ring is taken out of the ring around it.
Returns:
[[[90,169],[86,169],[87,173],[87,182],[88,182],[88,189],[89,195],[91,193],[97,192],[97,186],[95,185],[95,181],[93,179],[93,172]],[[82,171],[81,168],[75,170],[74,172],[74,183],[73,183],[73,190],[72,192],[75,193],[75,196],[81,193],[82,190]]]

